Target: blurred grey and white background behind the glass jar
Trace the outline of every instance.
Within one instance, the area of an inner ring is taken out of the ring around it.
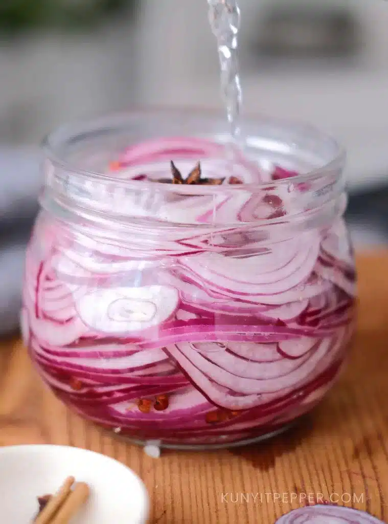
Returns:
[[[303,119],[341,140],[354,244],[387,243],[388,2],[240,5],[245,112]],[[1,0],[0,333],[17,324],[41,138],[147,104],[221,107],[206,0]]]

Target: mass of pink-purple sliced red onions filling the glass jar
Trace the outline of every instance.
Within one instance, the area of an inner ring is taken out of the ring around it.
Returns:
[[[121,160],[115,176],[139,187],[117,204],[133,219],[125,227],[103,217],[70,227],[44,213],[35,226],[21,325],[42,377],[105,427],[175,443],[250,439],[311,409],[352,333],[354,265],[342,220],[284,239],[287,215],[303,225],[316,211],[291,199],[287,184],[252,194],[227,180],[296,173],[262,173],[206,139],[153,140]],[[149,181],[168,176],[170,160],[184,176],[201,160],[204,177],[227,180],[207,194],[159,191]]]

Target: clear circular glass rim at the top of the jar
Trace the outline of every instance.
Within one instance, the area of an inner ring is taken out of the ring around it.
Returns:
[[[121,187],[125,187],[126,189],[136,189],[139,190],[139,182],[134,180],[123,180],[123,179],[117,179],[115,176],[109,176],[109,174],[106,174],[105,172],[98,172],[93,170],[86,170],[82,169],[76,165],[73,165],[71,162],[65,160],[64,158],[61,158],[61,155],[59,153],[59,147],[60,145],[63,145],[66,140],[71,140],[71,138],[75,137],[77,134],[79,134],[80,129],[83,127],[87,127],[87,129],[91,130],[93,128],[98,127],[104,127],[107,125],[113,125],[115,123],[129,123],[131,118],[135,117],[141,117],[142,115],[155,115],[158,117],[179,117],[179,116],[186,116],[186,117],[193,117],[193,118],[201,118],[204,119],[204,121],[214,121],[215,119],[219,119],[221,121],[222,118],[224,118],[224,115],[220,111],[216,111],[213,109],[205,110],[204,108],[176,108],[176,107],[146,107],[146,108],[137,108],[135,110],[130,111],[123,111],[120,113],[108,113],[101,116],[97,116],[94,118],[87,118],[87,119],[80,119],[74,122],[71,122],[69,124],[64,124],[54,130],[52,133],[48,134],[45,139],[42,141],[42,149],[44,154],[46,155],[46,158],[53,163],[54,166],[60,167],[68,172],[72,172],[76,174],[77,176],[80,176],[82,178],[87,178],[88,180],[96,180],[104,183],[112,183],[112,184],[119,184]],[[322,139],[322,141],[327,141],[331,144],[333,147],[335,154],[332,156],[332,159],[325,163],[325,165],[320,166],[319,168],[309,170],[306,173],[300,174],[298,176],[295,176],[292,178],[293,183],[304,183],[311,181],[312,179],[317,179],[320,176],[324,176],[328,171],[334,171],[339,170],[341,171],[343,167],[345,166],[346,161],[346,151],[345,149],[330,135],[322,132],[319,128],[307,124],[304,122],[298,122],[288,119],[282,119],[282,118],[274,118],[269,117],[265,115],[252,115],[250,117],[244,117],[242,118],[242,124],[266,124],[266,125],[273,125],[277,126],[278,128],[289,128],[294,129],[297,132],[300,133],[308,133],[311,132],[313,135],[318,137],[319,139]],[[225,128],[227,128],[227,122],[225,119]],[[85,136],[87,136],[87,132],[85,132]],[[249,140],[249,138],[248,138]],[[249,143],[248,143],[249,145]],[[254,145],[252,145],[254,147]],[[271,181],[271,183],[244,183],[244,184],[236,184],[231,185],[228,187],[228,189],[232,189],[233,191],[260,191],[261,189],[267,188],[269,186],[271,187],[277,187],[281,188],[284,185],[287,185],[290,183],[289,179],[283,179],[283,180],[275,180]],[[142,181],[141,182],[141,188],[147,189],[152,188],[153,190],[156,189],[156,186],[158,187],[159,191],[171,191],[176,192],[176,186],[173,184],[163,184],[163,183],[156,183],[151,181]],[[208,193],[214,193],[219,189],[220,186],[217,185],[201,185],[201,194],[208,194]],[[225,190],[225,188],[223,188]],[[198,194],[198,186],[197,185],[180,185],[180,193],[183,194]]]

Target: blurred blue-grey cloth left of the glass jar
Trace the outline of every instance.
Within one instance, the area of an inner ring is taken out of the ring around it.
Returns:
[[[19,324],[25,250],[38,210],[37,149],[0,147],[0,335]]]

